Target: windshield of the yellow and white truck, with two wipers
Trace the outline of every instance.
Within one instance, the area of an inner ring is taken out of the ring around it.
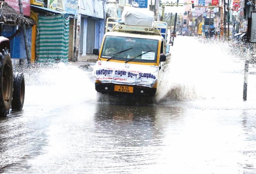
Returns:
[[[131,61],[155,63],[157,59],[157,48],[158,48],[158,40],[106,36],[103,44],[101,57],[102,58],[112,57],[112,59],[115,59],[115,60],[128,61],[138,56]],[[126,50],[126,49],[129,49],[129,50],[122,52],[123,50]],[[116,54],[119,52],[121,53]],[[148,53],[145,53],[145,52],[148,52]]]

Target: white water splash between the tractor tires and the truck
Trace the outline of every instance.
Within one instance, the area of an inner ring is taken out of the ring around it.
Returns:
[[[25,75],[25,105],[68,106],[94,102],[91,71],[71,64],[36,64],[19,69]]]

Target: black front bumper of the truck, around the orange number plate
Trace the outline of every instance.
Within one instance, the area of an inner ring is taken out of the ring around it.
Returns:
[[[124,95],[140,95],[140,96],[154,96],[156,93],[156,88],[147,88],[142,86],[133,86],[133,93],[128,92],[118,92],[114,91],[113,83],[95,83],[95,90],[101,93],[118,93]],[[119,84],[118,84],[119,85]],[[131,86],[131,85],[123,85],[123,86]],[[143,91],[143,93],[141,92]]]

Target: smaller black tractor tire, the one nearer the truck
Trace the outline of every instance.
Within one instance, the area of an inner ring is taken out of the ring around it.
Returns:
[[[23,73],[13,74],[12,110],[21,110],[25,99],[25,79]]]

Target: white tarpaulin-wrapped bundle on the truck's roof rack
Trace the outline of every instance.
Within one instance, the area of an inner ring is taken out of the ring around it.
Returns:
[[[143,8],[125,6],[122,13],[125,25],[153,27],[154,12]]]

